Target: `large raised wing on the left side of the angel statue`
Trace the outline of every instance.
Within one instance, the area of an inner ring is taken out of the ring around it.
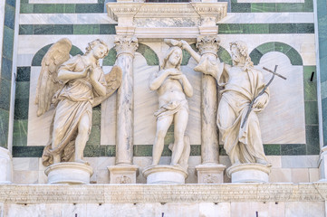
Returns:
[[[48,52],[45,53],[41,62],[42,69],[36,86],[35,104],[37,105],[36,115],[43,115],[51,106],[54,93],[62,88],[58,81],[58,68],[63,62],[70,59],[69,52],[72,49],[72,42],[63,38],[53,43]]]

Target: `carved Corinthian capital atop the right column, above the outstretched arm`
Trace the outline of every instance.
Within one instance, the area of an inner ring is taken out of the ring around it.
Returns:
[[[213,53],[216,55],[219,48],[220,38],[216,36],[198,36],[197,37],[197,48],[201,55],[205,53]]]

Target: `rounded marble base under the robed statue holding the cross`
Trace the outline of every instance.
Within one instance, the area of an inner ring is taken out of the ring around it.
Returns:
[[[227,169],[227,175],[232,183],[268,183],[270,167],[255,163],[232,165]]]

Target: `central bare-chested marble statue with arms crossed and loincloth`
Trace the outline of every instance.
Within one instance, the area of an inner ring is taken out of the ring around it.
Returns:
[[[160,71],[155,72],[149,81],[149,89],[157,90],[159,109],[157,118],[157,133],[153,145],[152,165],[158,165],[164,147],[164,138],[168,127],[174,122],[174,143],[169,145],[172,151],[171,164],[185,167],[188,165],[190,152],[189,137],[185,135],[188,125],[188,100],[192,97],[193,88],[188,78],[180,70],[182,50],[174,46],[171,40],[165,40],[170,48],[164,58]]]

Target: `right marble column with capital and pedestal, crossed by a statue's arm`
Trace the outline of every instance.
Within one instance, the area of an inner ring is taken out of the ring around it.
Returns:
[[[202,57],[217,60],[219,48],[217,36],[197,37],[197,48]],[[216,79],[202,75],[201,95],[201,158],[202,165],[197,165],[198,183],[222,183],[225,165],[219,165],[219,139],[216,126],[217,111]]]

